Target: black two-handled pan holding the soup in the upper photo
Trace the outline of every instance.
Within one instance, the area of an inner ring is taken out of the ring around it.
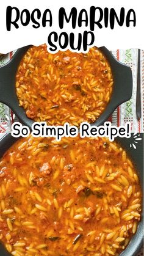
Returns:
[[[21,59],[29,46],[20,48],[12,60],[0,67],[0,101],[9,106],[25,125],[31,128],[33,120],[29,119],[22,107],[19,106],[15,89],[15,75]],[[106,47],[99,48],[106,56],[113,73],[113,93],[107,108],[92,125],[102,125],[121,103],[128,101],[132,95],[132,72],[127,65],[118,62]]]

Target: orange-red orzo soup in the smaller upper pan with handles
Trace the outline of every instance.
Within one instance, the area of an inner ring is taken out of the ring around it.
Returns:
[[[98,48],[87,54],[48,53],[32,46],[16,74],[16,93],[27,117],[49,125],[95,122],[110,100],[113,78]]]

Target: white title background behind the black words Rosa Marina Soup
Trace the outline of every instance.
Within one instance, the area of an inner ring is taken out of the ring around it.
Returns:
[[[12,7],[18,7],[21,11],[23,9],[28,9],[30,12],[35,8],[41,10],[41,13],[45,9],[51,9],[52,12],[52,28],[49,27],[40,27],[34,29],[32,27],[32,22],[28,26],[24,27],[20,24],[19,29],[15,29],[12,25],[12,30],[9,32],[6,29],[6,8],[10,5]],[[40,45],[42,43],[48,43],[48,34],[51,31],[56,32],[82,32],[84,30],[90,31],[89,27],[85,29],[82,27],[81,31],[78,28],[72,29],[71,23],[66,24],[62,31],[59,29],[59,20],[58,13],[60,7],[65,7],[67,16],[69,16],[70,10],[72,7],[77,7],[77,10],[82,8],[87,9],[89,13],[90,6],[94,5],[95,7],[104,7],[115,8],[117,14],[120,13],[120,8],[124,7],[126,13],[129,9],[134,9],[136,13],[136,26],[126,27],[125,22],[122,27],[116,26],[113,30],[110,27],[103,29],[95,29],[95,45],[96,46],[106,46],[108,49],[126,49],[126,48],[141,48],[144,49],[144,36],[143,36],[143,25],[144,25],[144,15],[143,15],[143,1],[134,1],[134,0],[88,0],[88,1],[46,1],[46,0],[4,0],[0,3],[0,53],[8,53],[14,49],[20,48],[26,45]],[[88,15],[89,16],[89,15]],[[104,24],[104,23],[102,23]]]

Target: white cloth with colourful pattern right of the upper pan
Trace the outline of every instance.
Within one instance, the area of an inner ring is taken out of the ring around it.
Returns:
[[[131,122],[132,132],[143,133],[144,131],[144,51],[141,51],[140,67],[141,67],[141,103],[142,118],[138,121],[136,116],[136,92],[137,92],[137,49],[112,51],[113,55],[131,67],[133,78],[132,98],[126,103],[121,104],[112,114],[111,120],[113,125],[124,125]]]

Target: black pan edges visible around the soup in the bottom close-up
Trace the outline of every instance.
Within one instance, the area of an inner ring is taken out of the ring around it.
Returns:
[[[140,137],[143,139],[143,134],[140,134]],[[14,138],[11,134],[6,134],[2,139],[0,139],[0,158],[5,153],[6,150],[12,146],[13,143],[18,141],[18,138]],[[130,156],[130,158],[134,161],[135,166],[138,170],[138,174],[140,177],[140,183],[143,191],[143,140],[137,144],[137,149],[130,148],[129,145],[134,142],[133,134],[129,139],[126,138],[117,138],[117,141],[121,144],[123,148],[126,149],[126,152]],[[140,249],[142,248],[143,244],[143,213],[142,219],[140,224],[137,228],[137,232],[132,237],[131,242],[129,243],[128,247],[120,254],[120,256],[136,256]],[[10,256],[10,254],[6,251],[4,246],[0,243],[0,254],[2,256]]]

